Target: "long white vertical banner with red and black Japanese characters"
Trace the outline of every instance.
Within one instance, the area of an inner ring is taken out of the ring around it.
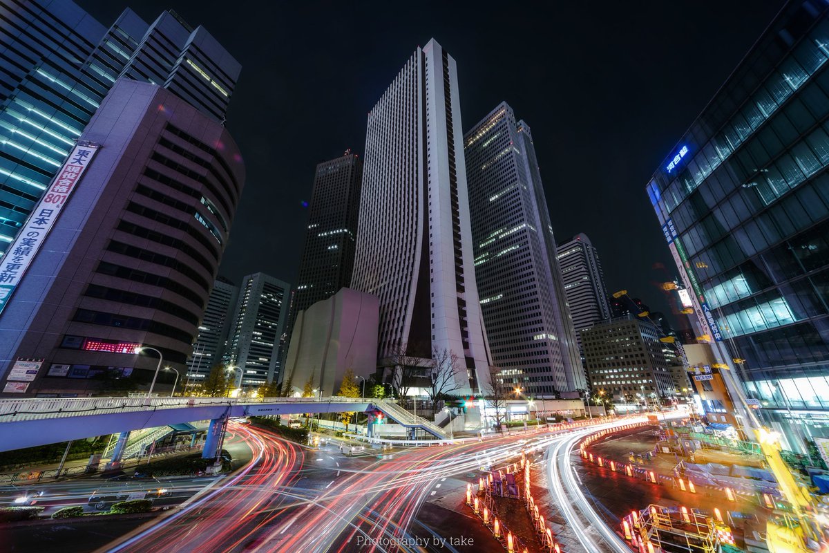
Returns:
[[[97,150],[97,146],[75,146],[66,163],[46,188],[41,201],[37,202],[17,238],[0,258],[0,313],[32,264],[37,251],[41,249],[46,235],[55,225],[61,209],[75,190]]]

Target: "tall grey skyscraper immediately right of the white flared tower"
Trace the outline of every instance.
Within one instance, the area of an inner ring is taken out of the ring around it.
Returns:
[[[499,104],[464,136],[483,321],[492,359],[527,393],[586,387],[530,128]]]

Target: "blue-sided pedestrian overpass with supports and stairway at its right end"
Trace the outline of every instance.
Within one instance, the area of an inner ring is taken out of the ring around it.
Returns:
[[[121,446],[116,445],[113,454],[119,460],[132,430],[210,420],[203,456],[215,457],[227,420],[233,417],[375,410],[411,434],[421,429],[437,439],[447,439],[439,426],[410,414],[391,400],[336,396],[22,398],[0,400],[0,451],[120,434]]]

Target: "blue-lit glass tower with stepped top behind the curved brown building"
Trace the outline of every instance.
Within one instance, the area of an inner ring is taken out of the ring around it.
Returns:
[[[0,0],[0,255],[119,77],[159,85],[220,121],[240,65],[175,12],[130,9],[107,29],[70,0]]]

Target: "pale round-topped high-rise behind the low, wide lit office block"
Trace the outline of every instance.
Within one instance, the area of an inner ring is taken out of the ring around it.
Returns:
[[[579,331],[604,318],[610,318],[602,264],[599,262],[599,253],[584,233],[562,242],[558,246],[556,257],[580,349]]]

